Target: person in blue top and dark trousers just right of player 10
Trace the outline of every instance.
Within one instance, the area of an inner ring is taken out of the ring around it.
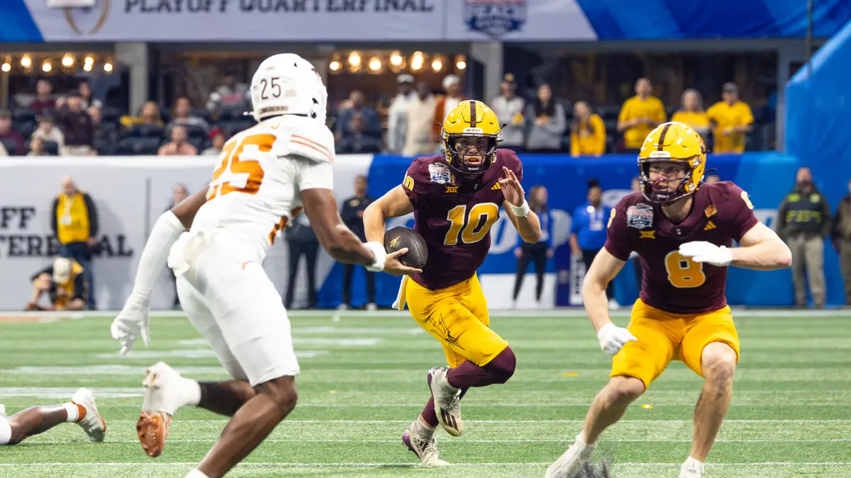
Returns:
[[[544,186],[533,186],[528,194],[529,210],[538,214],[540,219],[541,235],[538,242],[529,243],[521,242],[519,248],[514,249],[514,256],[517,257],[517,273],[514,276],[514,296],[512,308],[517,307],[517,296],[520,295],[520,289],[523,287],[523,276],[529,268],[529,260],[534,261],[535,271],[535,303],[540,307],[540,294],[544,290],[544,272],[546,270],[546,261],[552,257],[551,228],[552,220],[550,210],[547,208],[547,191]]]

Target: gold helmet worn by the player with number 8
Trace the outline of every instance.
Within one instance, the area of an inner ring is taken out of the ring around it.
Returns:
[[[660,183],[660,179],[655,182],[650,180],[650,165],[654,162],[682,162],[686,165],[685,177],[679,179],[676,191],[671,191],[670,187],[658,187],[656,183]],[[706,169],[703,138],[683,122],[664,122],[644,139],[638,153],[638,168],[641,172],[639,178],[642,192],[648,201],[668,203],[694,194],[703,183]]]

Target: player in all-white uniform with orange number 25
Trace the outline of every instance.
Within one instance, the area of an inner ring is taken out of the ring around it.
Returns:
[[[187,477],[225,475],[295,407],[299,364],[287,311],[261,263],[278,231],[302,207],[334,259],[376,271],[385,265],[419,271],[399,264],[405,249],[386,254],[383,244],[364,244],[343,225],[332,192],[334,135],[325,126],[327,92],[313,65],[296,54],[271,56],[254,74],[251,100],[259,124],[226,143],[207,191],[157,221],[133,293],[112,323],[123,352],[137,337],[147,344],[153,283],[168,259],[186,316],[234,378],[198,383],[163,362],[147,369],[136,429],[151,457],[163,452],[168,424],[180,407],[232,417]]]

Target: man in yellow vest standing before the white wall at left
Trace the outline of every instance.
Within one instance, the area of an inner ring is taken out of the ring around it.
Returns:
[[[91,196],[77,189],[74,179],[62,180],[62,192],[54,200],[53,230],[59,240],[59,255],[74,259],[83,267],[85,281],[89,284],[89,309],[94,310],[94,274],[92,273],[92,248],[97,243],[100,230],[98,209]]]

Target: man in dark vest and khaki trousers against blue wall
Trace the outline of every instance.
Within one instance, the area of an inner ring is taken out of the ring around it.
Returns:
[[[825,305],[825,237],[831,231],[831,206],[815,187],[809,168],[797,171],[795,188],[777,210],[777,234],[792,252],[795,304],[807,304],[807,284],[816,307]]]

